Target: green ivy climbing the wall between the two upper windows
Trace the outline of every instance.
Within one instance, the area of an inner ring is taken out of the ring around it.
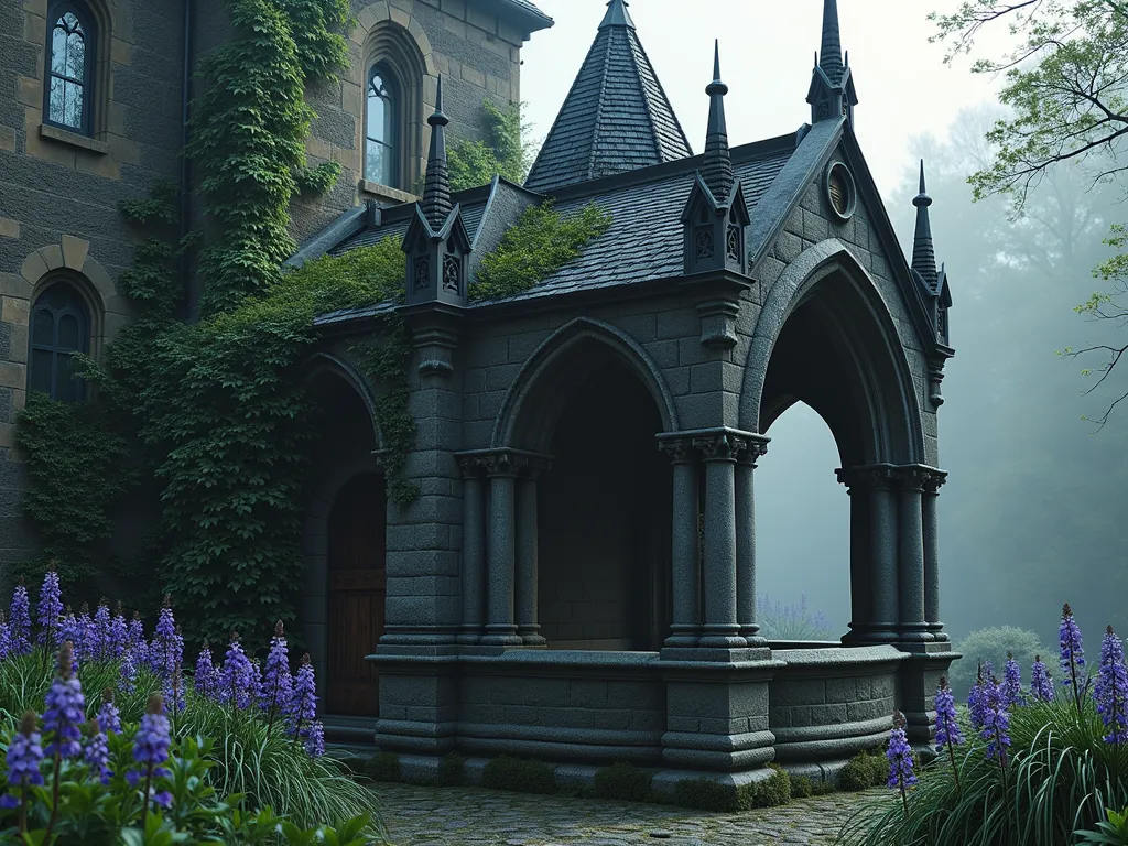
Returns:
[[[290,200],[332,184],[306,167],[307,82],[335,81],[347,47],[346,0],[228,0],[235,37],[200,65],[188,155],[203,171],[214,236],[203,252],[205,314],[265,293],[293,253]],[[316,174],[316,176],[315,176]]]

